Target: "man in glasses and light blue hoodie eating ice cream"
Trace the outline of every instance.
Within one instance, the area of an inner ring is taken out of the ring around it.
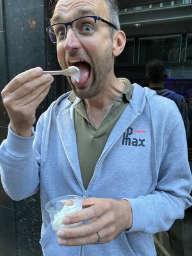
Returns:
[[[115,1],[59,0],[47,31],[61,68],[79,67],[79,82],[68,79],[73,92],[51,104],[36,133],[35,109],[52,77],[33,68],[4,88],[10,116],[0,152],[4,189],[21,200],[40,188],[44,256],[156,255],[152,234],[191,205],[179,111],[171,100],[115,77],[114,58],[125,45]],[[56,234],[45,204],[63,195],[84,197],[84,209],[63,223],[84,224]]]

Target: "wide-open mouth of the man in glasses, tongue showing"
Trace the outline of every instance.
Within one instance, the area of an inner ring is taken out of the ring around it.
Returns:
[[[79,68],[80,71],[80,77],[79,77],[79,82],[77,82],[73,77],[71,78],[71,81],[75,85],[83,85],[86,83],[88,78],[90,77],[90,72],[91,72],[91,66],[88,62],[86,61],[70,61],[69,66],[76,66]]]

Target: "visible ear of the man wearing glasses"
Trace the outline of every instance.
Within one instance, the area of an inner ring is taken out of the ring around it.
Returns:
[[[113,56],[118,56],[124,51],[126,36],[124,31],[116,31],[113,35]]]

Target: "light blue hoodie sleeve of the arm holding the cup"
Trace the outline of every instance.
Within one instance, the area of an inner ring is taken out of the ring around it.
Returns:
[[[184,124],[169,132],[164,140],[155,190],[150,195],[127,199],[132,207],[133,223],[127,232],[168,230],[176,219],[184,218],[191,203],[191,171]]]

